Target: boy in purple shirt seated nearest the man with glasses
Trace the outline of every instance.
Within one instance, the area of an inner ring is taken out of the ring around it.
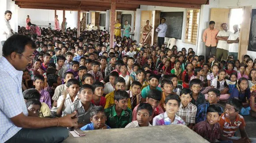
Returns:
[[[43,77],[43,75],[35,75],[33,85],[35,86],[35,89],[37,89],[38,92],[41,94],[40,102],[45,102],[49,106],[49,108],[51,108],[51,96],[47,91],[44,90],[45,78]]]

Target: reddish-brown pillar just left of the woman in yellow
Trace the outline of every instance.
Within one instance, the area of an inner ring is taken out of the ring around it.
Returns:
[[[114,31],[115,31],[115,20],[116,20],[116,1],[111,0],[111,19],[110,19],[110,42],[109,45],[111,48],[114,47]]]

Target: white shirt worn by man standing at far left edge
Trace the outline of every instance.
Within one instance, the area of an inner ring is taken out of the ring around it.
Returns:
[[[4,34],[4,32],[6,34]],[[6,18],[0,22],[0,41],[6,41],[9,37],[12,36],[11,25]]]

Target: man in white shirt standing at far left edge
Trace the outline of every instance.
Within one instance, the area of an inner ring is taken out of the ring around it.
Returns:
[[[2,46],[4,45],[4,42],[14,34],[9,23],[9,20],[11,20],[11,14],[11,11],[5,11],[4,21],[1,22],[2,24],[0,26],[0,41]]]

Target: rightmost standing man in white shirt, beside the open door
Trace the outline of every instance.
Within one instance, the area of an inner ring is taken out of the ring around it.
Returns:
[[[229,44],[229,55],[232,55],[234,60],[237,60],[240,32],[238,31],[238,25],[233,25],[233,29],[234,33],[230,33],[227,43]]]

